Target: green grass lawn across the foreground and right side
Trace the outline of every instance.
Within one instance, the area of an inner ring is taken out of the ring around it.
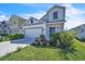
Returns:
[[[76,51],[63,55],[60,49],[52,47],[26,47],[18,52],[0,57],[2,61],[85,61],[85,43],[74,43]],[[63,56],[61,56],[61,54]],[[67,56],[67,57],[65,57]]]

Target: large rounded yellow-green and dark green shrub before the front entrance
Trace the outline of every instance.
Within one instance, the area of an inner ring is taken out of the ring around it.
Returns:
[[[72,33],[56,33],[51,37],[49,44],[61,49],[71,49],[73,42],[75,42],[74,39],[75,38]]]

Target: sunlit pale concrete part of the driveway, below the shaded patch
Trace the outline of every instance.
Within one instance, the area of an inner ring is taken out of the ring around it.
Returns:
[[[11,41],[0,42],[0,56],[16,51],[18,47],[24,48],[29,43],[11,43]]]

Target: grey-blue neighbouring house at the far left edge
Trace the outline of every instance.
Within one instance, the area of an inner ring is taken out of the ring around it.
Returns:
[[[0,34],[9,34],[10,27],[8,21],[0,22]]]

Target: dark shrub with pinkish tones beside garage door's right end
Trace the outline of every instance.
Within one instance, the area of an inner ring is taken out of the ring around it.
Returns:
[[[36,39],[37,46],[47,46],[48,41],[45,39],[44,35],[40,35],[39,38]]]

